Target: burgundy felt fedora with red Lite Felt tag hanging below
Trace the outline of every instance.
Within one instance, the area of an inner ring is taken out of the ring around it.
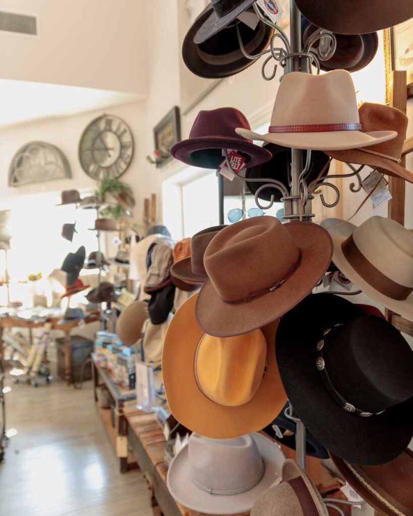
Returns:
[[[271,153],[235,133],[236,127],[250,131],[242,112],[234,107],[199,111],[189,138],[171,147],[171,155],[193,167],[217,169],[223,161],[223,149],[238,151],[248,167],[265,163]]]

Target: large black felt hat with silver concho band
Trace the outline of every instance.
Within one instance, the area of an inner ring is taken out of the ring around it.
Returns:
[[[277,363],[294,411],[338,457],[388,462],[413,435],[413,351],[386,320],[313,294],[279,324]]]

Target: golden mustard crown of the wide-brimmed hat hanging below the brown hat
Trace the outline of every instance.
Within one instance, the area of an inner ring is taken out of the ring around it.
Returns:
[[[204,333],[195,359],[199,388],[218,405],[244,405],[261,385],[266,356],[267,343],[261,330],[235,337]]]

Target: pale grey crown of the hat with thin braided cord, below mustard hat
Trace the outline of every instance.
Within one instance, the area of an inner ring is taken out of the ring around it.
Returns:
[[[208,490],[247,490],[263,473],[264,463],[250,434],[234,439],[209,439],[193,433],[188,454],[192,481]]]

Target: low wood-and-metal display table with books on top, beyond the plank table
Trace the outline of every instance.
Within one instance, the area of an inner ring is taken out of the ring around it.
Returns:
[[[124,404],[127,401],[136,399],[135,390],[124,389],[122,386],[115,383],[112,374],[107,369],[99,367],[92,357],[92,379],[93,379],[93,394],[96,404],[96,410],[102,420],[102,424],[106,430],[110,444],[115,451],[119,471],[124,473],[136,467],[136,460],[132,453],[128,450],[128,425],[123,413]],[[115,404],[115,426],[112,425],[112,414],[110,409],[102,409],[98,404],[98,397],[96,388],[99,385],[106,385],[107,390],[112,396]],[[136,405],[132,401],[133,406]]]

